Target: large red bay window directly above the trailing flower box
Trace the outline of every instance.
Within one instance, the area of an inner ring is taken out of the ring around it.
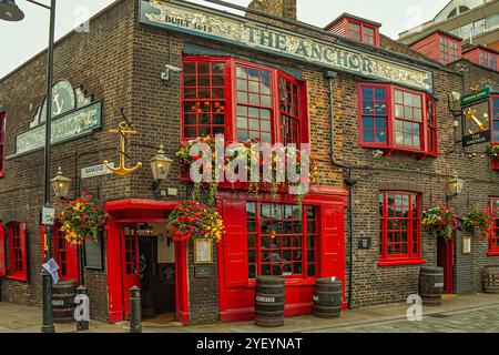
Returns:
[[[305,84],[272,67],[237,59],[184,57],[182,139],[307,142]]]

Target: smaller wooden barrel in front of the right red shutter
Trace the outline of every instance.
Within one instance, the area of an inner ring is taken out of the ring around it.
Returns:
[[[314,315],[338,318],[342,312],[342,281],[317,278],[314,287]]]

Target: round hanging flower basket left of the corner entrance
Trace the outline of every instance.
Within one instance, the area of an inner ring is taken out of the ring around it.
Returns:
[[[61,231],[72,245],[82,245],[85,240],[96,240],[104,227],[108,215],[92,195],[83,192],[81,197],[62,206]]]

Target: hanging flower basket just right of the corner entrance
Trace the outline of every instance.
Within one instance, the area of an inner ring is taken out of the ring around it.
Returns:
[[[215,207],[198,201],[187,201],[172,211],[166,223],[166,232],[177,242],[187,241],[193,235],[220,242],[225,227]]]

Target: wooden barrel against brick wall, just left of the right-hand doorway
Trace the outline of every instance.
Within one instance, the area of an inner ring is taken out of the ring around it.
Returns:
[[[444,292],[444,268],[437,266],[421,266],[419,271],[419,295],[427,306],[441,305]]]

